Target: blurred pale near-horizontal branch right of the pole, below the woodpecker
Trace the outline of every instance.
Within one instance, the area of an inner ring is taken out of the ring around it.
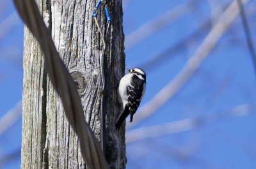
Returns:
[[[147,138],[154,138],[162,135],[170,135],[174,133],[180,133],[191,129],[200,128],[211,124],[213,122],[222,121],[225,119],[243,117],[245,115],[255,114],[256,105],[239,105],[230,110],[208,113],[201,117],[184,119],[181,121],[168,122],[166,124],[160,124],[156,126],[150,126],[146,128],[134,129],[126,132],[126,143],[136,142]]]

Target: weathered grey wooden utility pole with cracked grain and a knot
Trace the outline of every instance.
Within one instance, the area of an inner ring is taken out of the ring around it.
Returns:
[[[92,17],[97,1],[36,0],[56,48],[77,84],[86,122],[101,140],[100,73],[102,40]],[[110,168],[125,168],[124,128],[117,132],[120,113],[116,87],[124,75],[122,1],[108,4],[111,27],[106,49],[106,159]],[[106,33],[104,3],[97,10]],[[21,168],[85,168],[79,141],[70,128],[58,94],[52,88],[35,38],[24,29],[24,87]]]

